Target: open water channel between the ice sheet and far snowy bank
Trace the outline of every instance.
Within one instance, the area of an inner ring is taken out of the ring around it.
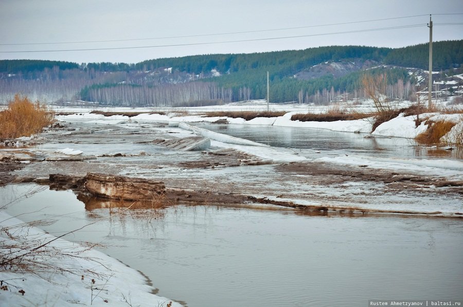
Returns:
[[[444,150],[419,146],[404,138],[365,138],[365,133],[337,132],[326,129],[255,125],[201,124],[202,128],[275,147],[293,148],[311,158],[311,151],[329,154],[362,154],[389,158],[463,159],[463,150]]]

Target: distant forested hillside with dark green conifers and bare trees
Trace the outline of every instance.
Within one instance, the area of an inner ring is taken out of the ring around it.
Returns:
[[[435,42],[433,50],[433,70],[442,71],[439,80],[460,70],[463,40]],[[368,70],[387,72],[391,86],[407,89],[391,90],[395,93],[391,98],[406,99],[418,81],[424,85],[427,66],[428,44],[207,54],[136,64],[4,60],[0,61],[0,94],[3,100],[17,91],[55,102],[137,106],[241,101],[265,98],[269,71],[272,102],[328,103],[361,95],[360,79]]]

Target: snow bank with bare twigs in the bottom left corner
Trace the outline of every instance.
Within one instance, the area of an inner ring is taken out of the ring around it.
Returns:
[[[24,224],[16,218],[12,218],[5,212],[0,212],[0,223],[2,227],[11,227],[14,225]],[[24,236],[29,240],[44,240],[48,242],[56,237],[45,234],[38,228],[22,227],[16,228],[14,236]],[[3,242],[9,241],[5,232],[0,233]],[[154,290],[147,284],[143,275],[123,263],[95,250],[86,250],[86,248],[63,240],[56,239],[47,246],[62,250],[63,253],[75,253],[79,251],[79,257],[66,257],[55,259],[37,259],[45,264],[60,265],[76,272],[77,275],[68,272],[61,274],[46,275],[50,282],[45,281],[37,276],[27,273],[17,272],[0,272],[0,280],[14,284],[25,291],[24,295],[18,292],[12,286],[8,286],[9,291],[2,291],[0,296],[0,305],[3,306],[76,306],[76,305],[93,305],[93,306],[128,306],[128,302],[133,306],[166,306],[168,299],[151,294]],[[85,270],[93,271],[97,275],[84,275],[81,273]],[[93,302],[91,301],[92,292],[88,287],[95,279],[95,287],[103,289],[99,297],[95,294],[99,290],[93,291]],[[127,301],[124,301],[124,297]],[[105,302],[106,300],[107,302]],[[181,305],[173,302],[172,306],[180,307]]]

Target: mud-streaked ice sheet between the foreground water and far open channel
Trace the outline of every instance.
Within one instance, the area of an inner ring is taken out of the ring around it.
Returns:
[[[261,203],[324,212],[420,214],[416,209],[369,206],[379,202],[394,204],[400,199],[432,203],[463,198],[463,181],[444,176],[311,160],[269,164],[237,150],[181,152],[153,143],[160,138],[174,138],[178,133],[162,125],[153,129],[150,125],[134,124],[126,129],[118,125],[66,123],[42,133],[40,145],[17,150],[0,148],[0,182],[37,182],[55,189],[73,189],[89,207],[106,200],[85,195],[82,186],[75,182],[96,170],[107,175],[162,181],[166,186],[166,204]],[[70,144],[97,152],[85,154],[84,150],[84,154],[76,156],[56,153],[55,148]],[[108,149],[101,150],[103,146]],[[31,152],[35,159],[29,163],[14,161],[27,160]],[[63,175],[68,181],[57,185],[50,181],[52,174]],[[454,216],[462,214],[457,212]]]

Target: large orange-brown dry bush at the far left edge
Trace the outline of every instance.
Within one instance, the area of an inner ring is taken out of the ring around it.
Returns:
[[[55,112],[45,105],[38,101],[32,103],[27,97],[16,94],[8,108],[0,112],[0,138],[18,138],[39,133],[54,118]]]

